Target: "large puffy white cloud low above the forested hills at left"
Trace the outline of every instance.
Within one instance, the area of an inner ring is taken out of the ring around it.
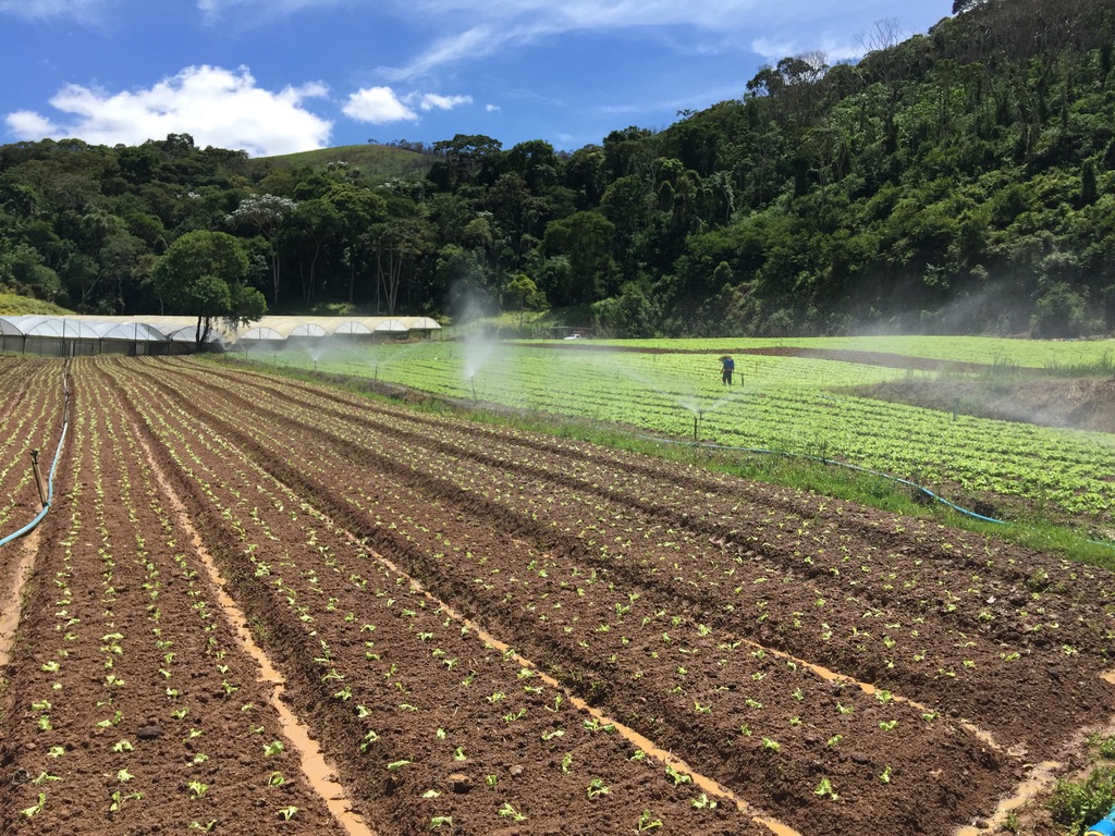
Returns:
[[[302,103],[326,95],[320,84],[278,93],[255,85],[246,68],[187,67],[149,89],[108,93],[68,85],[51,106],[74,117],[54,125],[29,111],[9,114],[20,138],[77,137],[94,145],[138,145],[167,134],[191,134],[198,145],[246,150],[252,156],[326,147],[332,123]]]

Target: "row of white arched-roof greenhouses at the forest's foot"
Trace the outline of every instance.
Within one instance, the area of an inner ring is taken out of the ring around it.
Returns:
[[[329,337],[428,339],[438,330],[429,317],[263,317],[240,327],[215,322],[206,348],[279,350]],[[0,351],[32,354],[187,353],[196,348],[196,334],[195,317],[0,317]]]

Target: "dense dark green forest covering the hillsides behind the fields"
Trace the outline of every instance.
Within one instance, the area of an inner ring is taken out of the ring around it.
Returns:
[[[1109,332],[1115,7],[953,11],[572,153],[0,146],[0,292],[126,314],[553,308],[633,337]]]

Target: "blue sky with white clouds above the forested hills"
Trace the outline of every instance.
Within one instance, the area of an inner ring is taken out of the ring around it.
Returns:
[[[252,156],[485,134],[573,150],[855,59],[952,0],[0,0],[0,143]]]

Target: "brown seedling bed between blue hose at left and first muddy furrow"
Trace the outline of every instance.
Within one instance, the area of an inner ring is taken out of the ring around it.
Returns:
[[[337,833],[120,405],[77,380],[4,693],[0,830]]]

